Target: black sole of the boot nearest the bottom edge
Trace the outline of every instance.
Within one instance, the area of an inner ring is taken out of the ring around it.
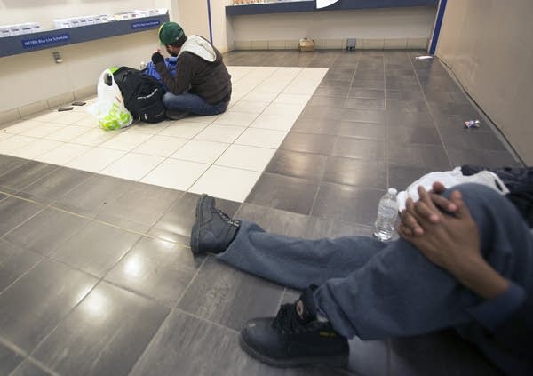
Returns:
[[[239,344],[244,352],[250,356],[255,357],[260,362],[272,365],[277,368],[291,368],[291,367],[328,367],[328,368],[347,368],[348,354],[339,356],[300,356],[294,359],[274,359],[259,353],[255,348],[248,346],[243,336],[239,336]]]

